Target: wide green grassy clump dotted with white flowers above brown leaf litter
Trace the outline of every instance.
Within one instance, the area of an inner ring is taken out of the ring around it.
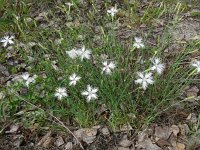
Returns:
[[[64,15],[69,19],[73,11],[80,12],[76,2],[70,9],[64,5],[56,7],[61,18]],[[26,3],[23,9],[25,6]],[[15,23],[12,29],[19,36],[3,37],[2,51],[13,46],[26,67],[25,72],[4,86],[6,96],[1,101],[1,116],[43,124],[48,112],[63,122],[72,120],[82,127],[101,123],[113,128],[126,123],[141,127],[171,107],[172,101],[179,102],[184,88],[199,73],[199,61],[192,62],[192,67],[188,59],[199,41],[188,43],[170,59],[165,57],[173,22],[156,39],[155,46],[147,43],[145,34],[133,37],[129,46],[124,46],[115,30],[119,11],[116,8],[109,7],[108,14],[102,16],[110,27],[107,30],[101,25],[98,36],[84,23],[81,14],[72,17],[76,21],[70,27],[61,19],[51,22],[57,18],[53,10],[41,15],[43,24],[12,14]],[[161,17],[166,6],[162,4],[154,14],[152,9],[148,8],[139,20],[146,23]],[[176,8],[175,12],[178,15]]]

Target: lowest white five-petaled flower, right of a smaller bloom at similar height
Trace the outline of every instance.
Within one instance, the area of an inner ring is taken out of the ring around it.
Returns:
[[[82,92],[81,94],[87,96],[87,102],[90,102],[91,100],[95,100],[98,98],[96,94],[97,91],[98,88],[92,88],[90,85],[87,85],[87,90]]]

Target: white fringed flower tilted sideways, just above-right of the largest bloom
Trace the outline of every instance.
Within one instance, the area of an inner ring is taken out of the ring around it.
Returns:
[[[161,74],[165,69],[165,65],[161,63],[160,58],[151,58],[151,62],[153,63],[152,71],[156,70],[158,74]]]

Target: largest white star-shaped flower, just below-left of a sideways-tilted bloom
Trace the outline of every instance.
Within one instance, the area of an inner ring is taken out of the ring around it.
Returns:
[[[153,77],[152,77],[152,73],[142,73],[142,72],[137,72],[138,75],[138,79],[135,80],[135,83],[137,84],[141,84],[142,88],[144,90],[147,89],[148,84],[153,84]]]

